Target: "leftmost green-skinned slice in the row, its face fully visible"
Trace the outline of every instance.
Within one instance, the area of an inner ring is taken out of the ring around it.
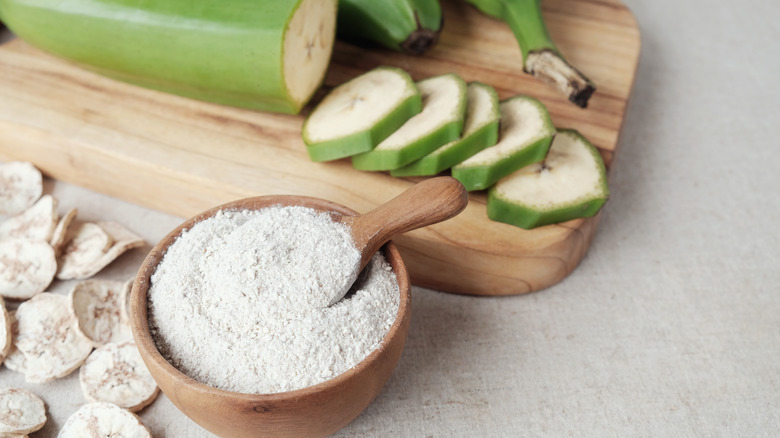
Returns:
[[[370,151],[421,107],[420,92],[408,73],[377,67],[325,96],[306,118],[303,141],[312,161]]]

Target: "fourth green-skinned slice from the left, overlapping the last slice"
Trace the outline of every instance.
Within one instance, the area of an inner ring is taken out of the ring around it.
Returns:
[[[501,102],[498,143],[454,166],[452,176],[467,190],[486,189],[521,167],[544,159],[555,135],[547,108],[537,99],[515,96]]]

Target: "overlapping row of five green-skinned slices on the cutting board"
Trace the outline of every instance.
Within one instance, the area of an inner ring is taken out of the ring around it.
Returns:
[[[490,219],[526,229],[593,216],[609,196],[601,155],[557,130],[539,100],[499,101],[452,73],[415,83],[397,68],[366,72],[314,108],[303,139],[314,161],[349,157],[398,177],[449,169],[467,190],[488,190]]]

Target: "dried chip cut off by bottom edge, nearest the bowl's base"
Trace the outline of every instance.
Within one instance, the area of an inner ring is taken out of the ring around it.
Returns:
[[[83,437],[151,438],[135,414],[111,403],[87,403],[62,426],[58,438]]]

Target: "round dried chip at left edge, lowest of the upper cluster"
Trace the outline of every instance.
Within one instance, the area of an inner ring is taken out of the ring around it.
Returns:
[[[56,272],[57,259],[48,242],[0,240],[0,296],[29,299],[46,290]]]

